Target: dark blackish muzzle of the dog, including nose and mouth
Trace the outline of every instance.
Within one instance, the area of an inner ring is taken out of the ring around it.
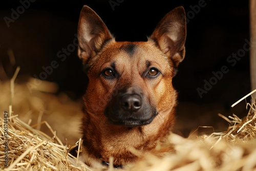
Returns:
[[[151,123],[157,112],[141,92],[133,91],[118,93],[109,102],[104,114],[112,124],[133,127]]]

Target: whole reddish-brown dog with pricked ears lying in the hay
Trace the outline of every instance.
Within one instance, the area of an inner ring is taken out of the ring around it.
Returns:
[[[145,42],[117,42],[88,6],[80,13],[78,56],[86,66],[83,145],[86,163],[136,161],[130,151],[150,151],[172,129],[177,93],[172,86],[184,58],[183,7],[165,15]]]

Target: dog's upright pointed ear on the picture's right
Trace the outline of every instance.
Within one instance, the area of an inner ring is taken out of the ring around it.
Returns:
[[[186,15],[183,7],[167,13],[156,27],[151,38],[177,67],[185,56]]]

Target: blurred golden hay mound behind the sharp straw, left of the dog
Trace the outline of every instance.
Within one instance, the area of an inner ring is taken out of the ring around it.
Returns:
[[[75,144],[81,137],[77,130],[82,115],[82,103],[71,100],[63,93],[49,93],[49,90],[53,90],[49,87],[56,87],[54,83],[44,81],[32,91],[28,89],[27,83],[33,83],[33,79],[20,83],[16,80],[15,87],[10,81],[0,81],[0,118],[3,118],[2,113],[9,110],[11,104],[13,115],[18,115],[23,122],[28,125],[37,124],[34,127],[36,130],[52,136],[46,124],[38,124],[47,121],[63,144]]]

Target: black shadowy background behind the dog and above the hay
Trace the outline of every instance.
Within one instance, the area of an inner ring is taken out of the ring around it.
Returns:
[[[151,35],[167,12],[183,6],[186,12],[193,14],[191,7],[200,1],[119,2],[113,10],[109,1],[103,0],[37,0],[30,3],[30,7],[10,23],[10,27],[7,27],[4,17],[11,18],[11,9],[16,11],[21,4],[19,1],[0,2],[0,79],[11,78],[16,66],[21,67],[19,81],[38,76],[44,71],[42,67],[50,66],[51,61],[56,60],[59,67],[53,69],[47,80],[57,82],[59,92],[66,92],[73,99],[80,98],[87,79],[76,50],[64,61],[60,61],[56,54],[75,39],[83,5],[89,5],[96,11],[116,40],[141,41]],[[250,92],[249,52],[234,67],[227,62],[227,57],[243,49],[245,39],[249,40],[248,1],[205,0],[205,4],[199,12],[194,12],[194,16],[189,16],[186,57],[173,81],[179,92],[180,118],[217,116],[217,113],[209,112],[216,108],[231,115],[230,105]],[[14,52],[15,65],[9,60],[8,49]],[[224,65],[230,71],[200,98],[197,88],[203,89],[204,79],[209,80],[213,76],[212,71],[220,71]],[[202,105],[204,107],[197,111]],[[214,121],[211,117],[208,120],[204,123]]]

